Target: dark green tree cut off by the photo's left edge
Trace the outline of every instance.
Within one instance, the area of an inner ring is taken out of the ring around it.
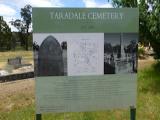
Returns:
[[[7,23],[0,16],[0,50],[11,50],[12,48],[12,33]]]

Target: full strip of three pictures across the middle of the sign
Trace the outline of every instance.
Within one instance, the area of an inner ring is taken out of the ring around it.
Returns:
[[[44,33],[34,37],[36,76],[137,72],[136,33]]]

